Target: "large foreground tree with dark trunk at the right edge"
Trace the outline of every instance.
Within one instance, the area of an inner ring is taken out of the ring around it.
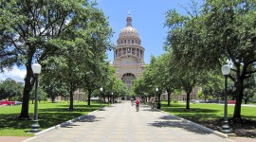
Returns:
[[[213,52],[210,50],[204,56],[210,55],[211,59],[218,61],[214,63],[218,64],[222,64],[219,61],[229,59],[234,66],[229,76],[235,84],[234,119],[241,118],[244,80],[256,72],[253,67],[256,63],[255,9],[253,1],[214,1],[207,2],[204,7],[206,16],[203,35],[207,41],[204,50],[214,48]]]

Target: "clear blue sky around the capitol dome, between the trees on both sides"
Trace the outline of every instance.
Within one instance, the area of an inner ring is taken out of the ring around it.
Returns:
[[[198,0],[200,1],[200,0]],[[202,0],[201,0],[202,1]],[[133,27],[138,31],[141,44],[145,48],[144,61],[150,63],[150,56],[164,53],[163,45],[168,29],[164,27],[168,9],[176,9],[182,14],[191,0],[98,0],[100,9],[108,17],[115,34],[112,42],[117,44],[119,31],[126,25],[128,11],[131,11]],[[108,59],[113,62],[113,50],[108,51]]]

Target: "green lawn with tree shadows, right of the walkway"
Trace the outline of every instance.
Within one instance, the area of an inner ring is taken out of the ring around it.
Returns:
[[[191,103],[191,110],[186,110],[185,103],[171,103],[167,106],[167,102],[162,102],[161,110],[169,114],[183,117],[192,122],[204,125],[210,129],[220,131],[224,120],[224,104],[216,103]],[[229,126],[233,129],[233,133],[239,136],[256,137],[256,107],[242,106],[240,121],[233,121],[232,115],[234,105],[228,105]]]

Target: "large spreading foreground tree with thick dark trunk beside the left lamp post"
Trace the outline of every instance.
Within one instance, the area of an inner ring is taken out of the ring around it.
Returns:
[[[0,69],[11,68],[13,64],[24,64],[27,69],[20,118],[29,117],[29,93],[34,84],[32,62],[43,63],[50,57],[61,56],[66,47],[74,47],[70,45],[74,33],[77,38],[82,33],[90,35],[87,29],[98,27],[97,20],[104,19],[95,6],[84,0],[1,1]],[[66,41],[70,42],[69,46],[64,45]],[[44,69],[46,64],[42,65]]]

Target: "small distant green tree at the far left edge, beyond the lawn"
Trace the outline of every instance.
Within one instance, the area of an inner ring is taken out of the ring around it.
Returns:
[[[20,82],[11,79],[4,80],[0,83],[0,99],[14,100],[14,98],[20,98],[22,88],[23,85]]]

